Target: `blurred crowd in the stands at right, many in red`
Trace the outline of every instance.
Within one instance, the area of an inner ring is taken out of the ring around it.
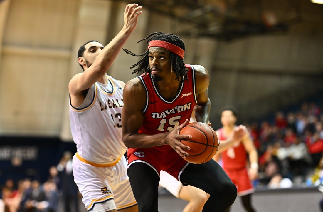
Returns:
[[[272,120],[244,123],[259,154],[258,187],[285,179],[285,186],[318,185],[323,174],[323,113],[318,104],[303,102],[290,111],[277,111]],[[284,185],[282,185],[284,186]]]

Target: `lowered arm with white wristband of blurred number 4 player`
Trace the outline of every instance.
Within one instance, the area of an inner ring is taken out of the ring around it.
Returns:
[[[254,142],[250,136],[250,133],[247,130],[245,136],[242,139],[242,143],[245,147],[246,152],[249,155],[249,177],[250,180],[254,180],[258,176],[258,153],[254,145]]]

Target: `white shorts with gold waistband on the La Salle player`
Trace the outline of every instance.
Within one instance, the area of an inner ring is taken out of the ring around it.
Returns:
[[[87,210],[120,210],[137,204],[130,187],[124,156],[118,163],[108,167],[95,167],[79,158],[76,154],[73,157],[73,175]]]

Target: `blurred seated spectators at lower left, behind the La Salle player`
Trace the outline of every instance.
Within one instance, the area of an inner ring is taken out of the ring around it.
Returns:
[[[2,185],[0,200],[0,212],[58,212],[62,209],[64,212],[79,212],[71,152],[64,152],[57,166],[49,168],[44,183],[25,178],[15,184],[12,179],[7,179]]]

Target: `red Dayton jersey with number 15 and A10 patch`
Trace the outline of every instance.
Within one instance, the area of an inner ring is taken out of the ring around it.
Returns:
[[[139,79],[147,92],[144,122],[138,133],[157,134],[173,130],[186,119],[190,120],[193,107],[196,105],[194,68],[185,64],[189,72],[188,82],[181,84],[178,94],[172,101],[165,100],[156,89],[150,73],[141,74]]]

